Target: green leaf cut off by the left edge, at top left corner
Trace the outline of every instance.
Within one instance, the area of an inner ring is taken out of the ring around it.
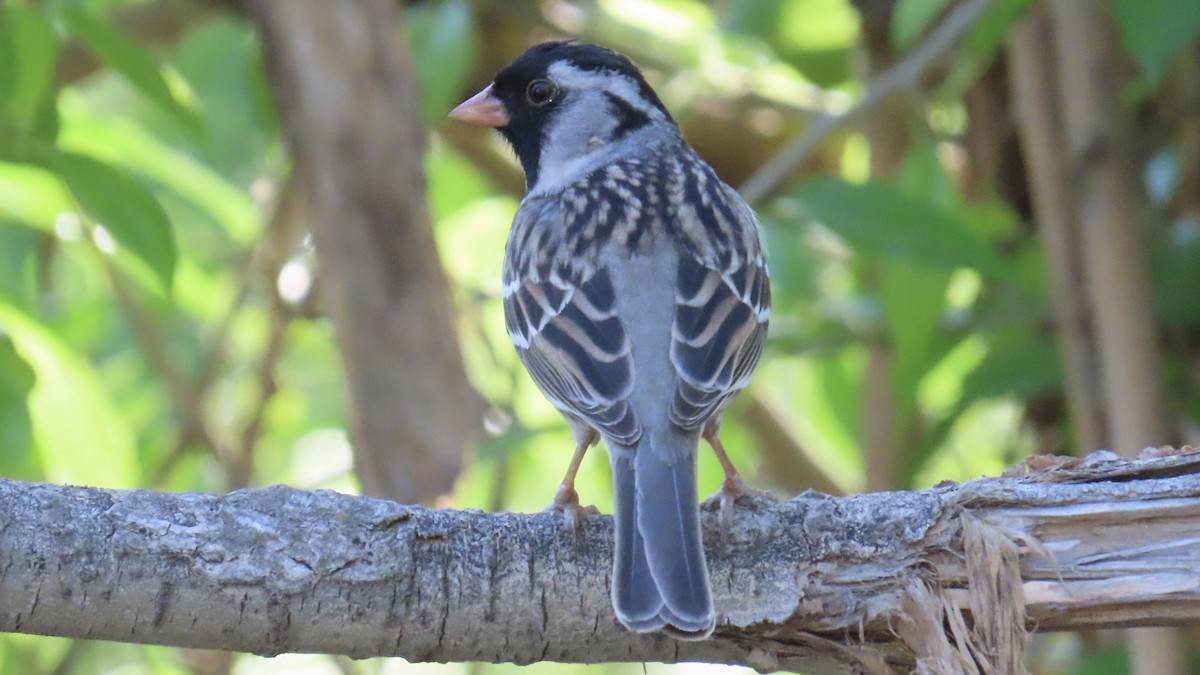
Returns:
[[[35,126],[55,91],[58,54],[59,38],[41,12],[0,8],[0,104],[12,126]]]

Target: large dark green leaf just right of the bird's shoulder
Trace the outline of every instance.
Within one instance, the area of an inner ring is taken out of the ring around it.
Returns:
[[[988,239],[972,232],[959,214],[938,209],[894,185],[822,179],[793,192],[792,203],[862,253],[931,268],[966,267],[985,275],[1008,275]]]

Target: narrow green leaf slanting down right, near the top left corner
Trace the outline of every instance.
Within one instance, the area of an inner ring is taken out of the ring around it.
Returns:
[[[121,73],[187,132],[200,135],[199,115],[172,90],[162,66],[140,44],[82,7],[64,7],[62,18],[97,59]]]

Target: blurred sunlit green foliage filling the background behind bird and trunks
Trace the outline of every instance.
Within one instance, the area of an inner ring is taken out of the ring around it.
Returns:
[[[1111,4],[1138,72],[1129,104],[1169,97],[1195,67],[1200,4]],[[253,484],[356,491],[311,244],[299,237],[271,250],[268,237],[289,162],[253,26],[197,0],[178,30],[157,31],[157,5],[187,4],[0,2],[0,474],[220,491],[236,486],[230,466],[241,461]],[[488,47],[578,34],[629,53],[685,130],[704,130],[694,141],[715,148],[709,159],[719,172],[734,167],[732,175],[769,157],[752,148],[776,149],[812,115],[836,114],[860,94],[854,5],[556,0],[512,2],[504,22],[494,2],[408,5],[437,243],[470,378],[493,407],[492,434],[455,506],[541,509],[571,442],[504,329],[499,269],[520,196],[505,193],[494,166],[476,155],[515,165],[498,142],[464,149],[443,129],[445,110],[512,55]],[[890,47],[902,58],[954,5],[898,0]],[[1062,438],[1050,449],[1090,449],[1074,446],[1062,414],[1028,414],[1039,401],[1061,400],[1063,377],[1027,205],[995,185],[970,198],[964,186],[967,136],[986,131],[971,129],[965,98],[1027,7],[998,0],[944,72],[913,92],[924,119],[894,174],[870,177],[872,148],[847,131],[820,153],[816,171],[826,175],[760,204],[775,297],[770,344],[751,394],[725,424],[726,446],[749,474],[762,453],[793,453],[797,466],[845,490],[866,483],[864,428],[875,420],[864,382],[877,345],[892,351],[888,386],[910,446],[898,488],[1002,471],[1044,449],[1048,428]],[[132,12],[143,20],[127,22]],[[1172,79],[1176,71],[1184,77]],[[748,144],[746,130],[758,145]],[[1163,133],[1147,142],[1146,240],[1168,336],[1165,381],[1172,411],[1196,426],[1200,215],[1177,207],[1181,191],[1195,189],[1182,177],[1195,171],[1196,149]],[[272,340],[281,348],[269,348]],[[793,447],[766,447],[743,420],[748,405],[778,413]],[[701,462],[702,491],[715,490],[715,460],[703,453]],[[804,476],[754,482],[803,485]],[[607,510],[607,462],[594,452],[580,491]],[[1050,651],[1078,650],[1061,645]],[[509,669],[248,656],[234,665],[247,675]],[[605,668],[635,669],[643,671]],[[727,669],[685,669],[718,670]],[[0,637],[0,674],[116,671],[196,670],[176,650]]]

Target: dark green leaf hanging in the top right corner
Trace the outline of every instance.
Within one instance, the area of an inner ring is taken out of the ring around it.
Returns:
[[[1195,0],[1111,0],[1126,49],[1157,86],[1171,61],[1200,36]]]

